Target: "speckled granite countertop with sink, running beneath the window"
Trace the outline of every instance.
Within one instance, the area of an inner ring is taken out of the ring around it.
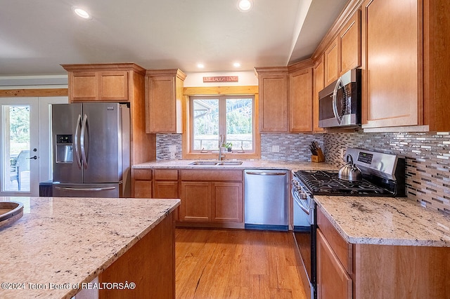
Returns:
[[[225,165],[225,166],[199,166],[189,165],[193,161],[208,161],[208,160],[161,160],[150,161],[142,164],[136,164],[133,168],[213,168],[213,169],[288,169],[291,171],[302,170],[338,170],[337,166],[326,163],[314,163],[310,161],[271,161],[271,160],[239,160],[243,161],[240,165]],[[233,160],[226,160],[233,161]]]

